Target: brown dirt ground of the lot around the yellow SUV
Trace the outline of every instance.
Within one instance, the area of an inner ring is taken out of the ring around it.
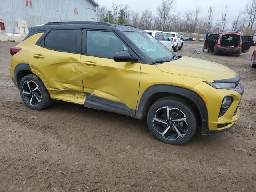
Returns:
[[[241,117],[211,136],[172,146],[156,140],[145,120],[54,102],[27,108],[9,75],[9,48],[0,42],[0,191],[255,191],[256,69],[249,53],[214,56],[202,42],[178,55],[224,64],[242,78]],[[32,116],[38,118],[33,119]]]

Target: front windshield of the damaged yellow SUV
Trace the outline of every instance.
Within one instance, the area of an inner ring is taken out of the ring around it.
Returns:
[[[166,46],[146,32],[124,32],[124,34],[148,57],[152,63],[168,61],[175,56]]]

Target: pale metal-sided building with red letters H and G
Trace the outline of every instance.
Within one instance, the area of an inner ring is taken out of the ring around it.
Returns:
[[[18,21],[29,26],[58,21],[96,21],[98,3],[94,0],[0,0],[0,23],[15,33]]]

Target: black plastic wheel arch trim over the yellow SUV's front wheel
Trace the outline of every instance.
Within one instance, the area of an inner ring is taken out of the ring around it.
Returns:
[[[204,100],[194,91],[173,85],[158,84],[149,87],[143,94],[136,110],[135,118],[142,119],[146,117],[147,112],[154,102],[166,97],[173,96],[185,100],[194,107],[198,118],[198,126],[201,133],[208,130],[208,110]]]

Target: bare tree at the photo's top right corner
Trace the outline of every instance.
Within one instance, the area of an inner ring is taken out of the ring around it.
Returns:
[[[256,18],[256,0],[248,0],[242,14],[249,20],[248,27],[252,28]]]

